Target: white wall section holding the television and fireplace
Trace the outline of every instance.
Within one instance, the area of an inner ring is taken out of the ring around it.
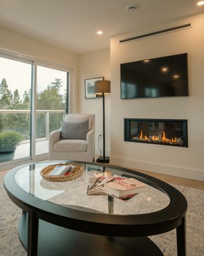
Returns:
[[[119,40],[191,23],[192,28],[119,44]],[[111,163],[204,181],[204,13],[111,38]],[[188,53],[189,97],[120,99],[120,64]],[[189,148],[124,142],[124,118],[187,119]]]

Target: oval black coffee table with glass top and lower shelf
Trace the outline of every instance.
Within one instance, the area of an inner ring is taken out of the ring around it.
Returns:
[[[169,184],[114,165],[75,162],[84,172],[75,180],[51,182],[40,171],[47,161],[18,166],[4,177],[11,200],[23,210],[20,241],[28,255],[163,255],[147,236],[176,228],[178,255],[186,255],[185,197]],[[148,185],[128,200],[87,195],[96,175],[133,177]],[[151,253],[151,254],[149,254]]]

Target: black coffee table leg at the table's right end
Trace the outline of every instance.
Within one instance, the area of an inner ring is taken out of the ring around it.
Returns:
[[[181,224],[176,228],[177,255],[186,256],[186,217],[181,220]]]

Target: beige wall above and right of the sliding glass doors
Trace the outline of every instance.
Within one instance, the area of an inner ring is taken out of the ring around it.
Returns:
[[[0,52],[3,50],[10,53],[23,55],[50,65],[71,69],[73,74],[72,99],[77,95],[77,65],[78,55],[65,51],[42,41],[30,38],[23,34],[0,27]],[[72,111],[77,111],[77,103],[73,101]]]

